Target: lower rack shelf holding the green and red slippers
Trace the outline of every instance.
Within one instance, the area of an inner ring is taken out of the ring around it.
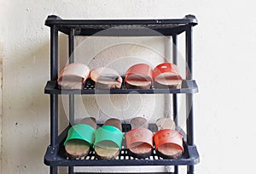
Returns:
[[[65,129],[59,136],[59,143],[57,146],[49,146],[44,156],[44,164],[48,166],[193,166],[199,163],[199,154],[196,146],[183,143],[184,152],[177,159],[163,159],[156,154],[155,149],[151,156],[146,159],[137,159],[128,154],[125,145],[122,146],[119,156],[114,160],[97,160],[95,151],[90,150],[90,153],[78,159],[69,159],[65,153],[63,142],[67,137],[68,128]],[[156,131],[154,124],[148,127],[152,132]],[[128,132],[131,126],[123,124],[123,131]],[[125,141],[123,141],[124,143]]]

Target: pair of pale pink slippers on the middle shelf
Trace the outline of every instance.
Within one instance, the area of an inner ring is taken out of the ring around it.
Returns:
[[[60,89],[83,89],[84,82],[90,78],[98,89],[120,88],[123,82],[116,70],[98,67],[90,70],[87,65],[72,63],[60,71],[57,82]]]

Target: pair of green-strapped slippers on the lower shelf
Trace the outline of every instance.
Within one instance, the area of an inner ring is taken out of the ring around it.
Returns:
[[[71,158],[84,157],[93,148],[98,159],[110,160],[119,155],[122,140],[121,121],[111,118],[96,128],[96,119],[89,117],[68,130],[64,146]]]

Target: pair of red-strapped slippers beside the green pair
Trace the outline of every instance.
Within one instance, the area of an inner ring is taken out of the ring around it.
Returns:
[[[155,148],[156,154],[163,158],[177,159],[183,154],[183,136],[175,131],[171,119],[160,118],[156,121],[157,132],[148,130],[147,120],[136,117],[131,120],[131,131],[125,134],[128,152],[138,159],[147,158]]]

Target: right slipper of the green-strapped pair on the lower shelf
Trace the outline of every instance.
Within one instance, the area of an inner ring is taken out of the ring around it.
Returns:
[[[119,155],[123,140],[121,121],[108,119],[95,133],[94,149],[98,159],[115,159]]]

